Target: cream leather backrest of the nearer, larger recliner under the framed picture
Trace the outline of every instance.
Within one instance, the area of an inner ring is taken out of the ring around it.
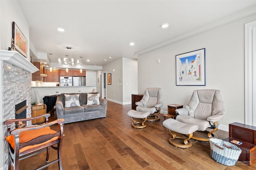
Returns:
[[[211,115],[225,113],[220,90],[214,89],[194,90],[186,108],[190,116],[200,120],[207,120]]]

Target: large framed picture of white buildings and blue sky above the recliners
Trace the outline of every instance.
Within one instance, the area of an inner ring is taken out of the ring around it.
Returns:
[[[176,86],[205,86],[205,48],[176,55]]]

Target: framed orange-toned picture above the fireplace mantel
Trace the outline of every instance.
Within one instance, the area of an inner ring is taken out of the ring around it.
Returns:
[[[14,39],[15,50],[27,58],[28,41],[15,22],[12,22],[12,39]]]

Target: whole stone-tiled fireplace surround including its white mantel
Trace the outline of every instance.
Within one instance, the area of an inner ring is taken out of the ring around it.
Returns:
[[[15,119],[15,105],[27,100],[27,117],[31,117],[31,73],[38,69],[16,51],[0,50],[3,169],[8,169],[7,126],[4,121]],[[1,168],[0,168],[1,169]]]

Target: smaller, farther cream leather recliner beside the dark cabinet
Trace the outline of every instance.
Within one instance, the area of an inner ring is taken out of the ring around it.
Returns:
[[[142,100],[135,103],[137,105],[136,111],[149,111],[147,121],[159,121],[161,107],[163,106],[162,88],[146,88]]]

